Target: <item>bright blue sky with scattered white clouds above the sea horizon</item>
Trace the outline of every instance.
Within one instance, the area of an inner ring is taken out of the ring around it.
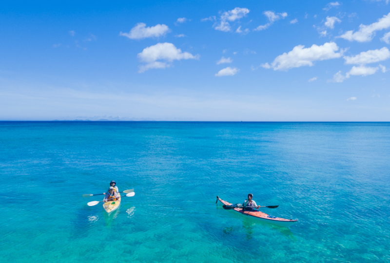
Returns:
[[[389,0],[0,8],[0,120],[390,121]]]

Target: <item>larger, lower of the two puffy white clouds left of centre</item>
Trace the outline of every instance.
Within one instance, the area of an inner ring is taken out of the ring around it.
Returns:
[[[170,67],[174,60],[181,59],[198,59],[199,56],[192,55],[188,52],[182,52],[181,49],[176,48],[172,43],[158,43],[154,46],[145,48],[137,57],[141,62],[146,63],[139,67],[139,73],[145,72],[149,69],[164,69]],[[162,61],[157,61],[162,60]]]

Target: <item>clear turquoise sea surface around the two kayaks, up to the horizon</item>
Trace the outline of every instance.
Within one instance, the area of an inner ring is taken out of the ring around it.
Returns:
[[[0,262],[390,262],[390,123],[0,122],[0,176]]]

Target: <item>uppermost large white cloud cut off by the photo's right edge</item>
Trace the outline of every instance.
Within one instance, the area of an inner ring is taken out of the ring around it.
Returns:
[[[349,41],[368,42],[375,36],[375,31],[380,31],[390,27],[390,13],[383,18],[378,19],[377,22],[370,25],[359,26],[359,31],[353,33],[353,30],[347,31],[345,34],[339,36]]]

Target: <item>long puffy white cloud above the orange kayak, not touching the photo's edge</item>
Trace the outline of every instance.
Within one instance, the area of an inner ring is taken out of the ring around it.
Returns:
[[[273,70],[289,70],[302,66],[312,66],[313,61],[327,60],[342,56],[342,52],[336,53],[339,47],[334,42],[325,43],[322,46],[312,45],[310,48],[304,48],[303,45],[295,46],[289,53],[283,53],[277,56],[271,66]],[[265,66],[262,66],[265,67]]]

